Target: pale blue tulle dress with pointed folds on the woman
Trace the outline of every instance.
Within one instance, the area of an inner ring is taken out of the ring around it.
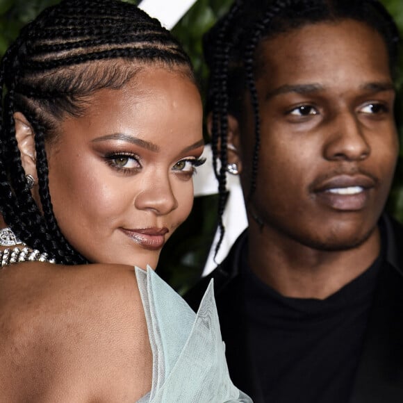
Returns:
[[[154,270],[135,274],[153,354],[151,390],[138,403],[252,403],[229,378],[213,283],[195,314]]]

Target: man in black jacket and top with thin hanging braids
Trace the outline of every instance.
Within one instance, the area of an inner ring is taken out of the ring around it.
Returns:
[[[210,277],[254,402],[403,401],[396,44],[369,0],[238,2],[207,38],[220,213],[228,167],[249,221]]]

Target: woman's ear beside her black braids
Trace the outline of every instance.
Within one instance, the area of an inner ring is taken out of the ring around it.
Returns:
[[[30,174],[36,180],[36,151],[35,134],[31,124],[21,112],[14,113],[15,138],[17,138],[19,152],[21,153],[22,167],[26,174]]]

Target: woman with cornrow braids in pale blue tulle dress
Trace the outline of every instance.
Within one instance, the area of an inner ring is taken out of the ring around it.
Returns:
[[[195,318],[133,273],[156,267],[202,163],[179,44],[135,6],[66,0],[22,30],[0,77],[1,400],[249,401],[211,291]]]

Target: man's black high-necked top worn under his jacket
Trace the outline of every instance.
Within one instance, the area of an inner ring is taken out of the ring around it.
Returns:
[[[381,256],[322,300],[279,295],[249,270],[245,255],[248,349],[264,402],[348,402]]]

